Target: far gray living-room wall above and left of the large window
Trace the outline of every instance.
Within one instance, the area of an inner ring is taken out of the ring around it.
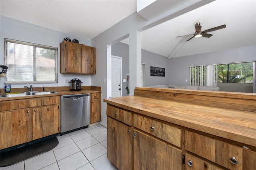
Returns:
[[[169,59],[169,84],[189,85],[190,66],[244,61],[256,61],[256,45],[171,58]]]

